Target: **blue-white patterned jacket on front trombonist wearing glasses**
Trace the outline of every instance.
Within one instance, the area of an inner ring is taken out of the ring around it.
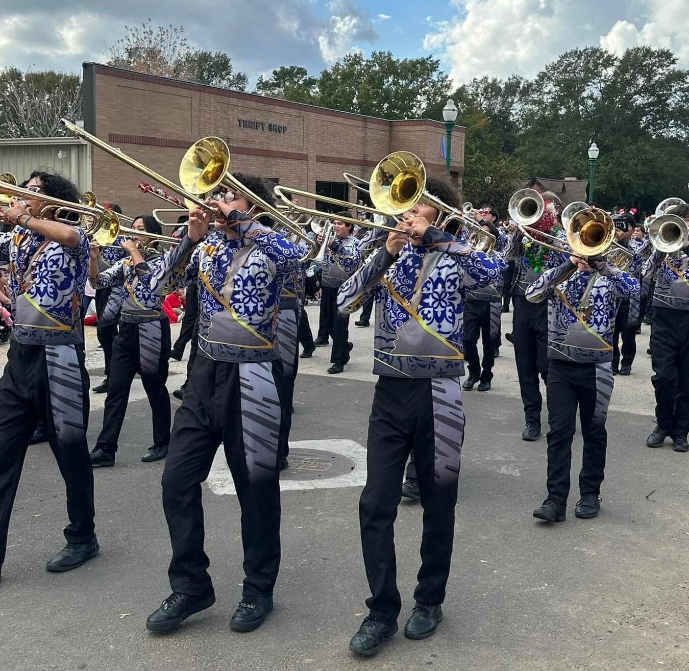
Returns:
[[[194,245],[187,236],[163,257],[151,288],[164,295],[198,277],[198,348],[216,361],[256,362],[280,357],[280,289],[302,256],[294,242],[243,214],[237,238],[211,231]]]

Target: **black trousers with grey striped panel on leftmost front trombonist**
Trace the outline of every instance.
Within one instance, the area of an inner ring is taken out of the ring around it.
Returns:
[[[0,379],[0,565],[26,448],[39,422],[65,481],[70,518],[65,538],[75,544],[95,538],[88,389],[83,345],[10,342]]]

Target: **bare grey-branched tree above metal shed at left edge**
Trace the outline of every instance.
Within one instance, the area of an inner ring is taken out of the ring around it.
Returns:
[[[60,119],[83,118],[81,81],[76,74],[45,70],[0,70],[0,137],[65,135]]]

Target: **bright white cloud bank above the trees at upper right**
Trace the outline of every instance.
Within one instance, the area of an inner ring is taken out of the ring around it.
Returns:
[[[687,0],[453,0],[453,6],[457,14],[449,21],[426,19],[431,29],[423,46],[442,58],[457,85],[475,76],[534,76],[566,50],[597,45],[597,36],[615,52],[640,43],[668,46],[689,65]]]

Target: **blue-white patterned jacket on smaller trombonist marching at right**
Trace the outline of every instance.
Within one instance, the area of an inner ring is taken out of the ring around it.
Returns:
[[[526,300],[548,298],[548,357],[576,363],[613,360],[613,331],[619,301],[639,293],[639,280],[607,262],[599,271],[574,271],[566,260],[546,270],[526,289]],[[569,278],[568,274],[573,273]],[[581,305],[593,282],[590,300]]]

